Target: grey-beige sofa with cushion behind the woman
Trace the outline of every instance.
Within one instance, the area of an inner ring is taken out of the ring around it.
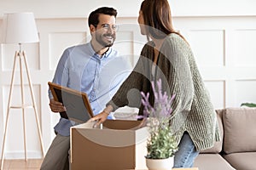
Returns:
[[[256,170],[256,108],[216,111],[222,140],[201,151],[199,170]]]

